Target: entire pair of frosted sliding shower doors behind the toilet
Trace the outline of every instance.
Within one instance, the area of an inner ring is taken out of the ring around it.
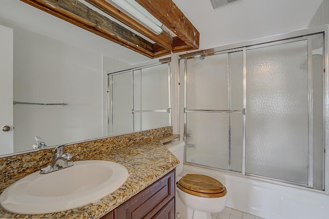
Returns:
[[[324,190],[324,32],[224,48],[184,57],[186,163]]]

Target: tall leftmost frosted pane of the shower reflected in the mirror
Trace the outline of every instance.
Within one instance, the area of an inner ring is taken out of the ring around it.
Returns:
[[[132,114],[132,73],[113,75],[113,134],[134,131]]]

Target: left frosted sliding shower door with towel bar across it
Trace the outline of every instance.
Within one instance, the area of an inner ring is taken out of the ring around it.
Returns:
[[[242,51],[187,61],[186,162],[242,171],[242,64]]]

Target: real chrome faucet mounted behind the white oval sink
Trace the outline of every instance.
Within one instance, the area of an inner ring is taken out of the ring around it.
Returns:
[[[63,148],[64,145],[60,145],[53,150],[52,166],[49,165],[42,168],[40,173],[50,173],[73,165],[73,161],[71,161],[72,155],[69,153],[63,153]]]

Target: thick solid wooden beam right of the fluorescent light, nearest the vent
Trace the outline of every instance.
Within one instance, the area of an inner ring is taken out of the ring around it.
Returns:
[[[172,0],[135,0],[191,49],[199,48],[199,32]]]

